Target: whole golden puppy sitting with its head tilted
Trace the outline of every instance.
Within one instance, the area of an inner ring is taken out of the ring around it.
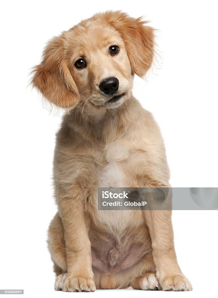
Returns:
[[[170,187],[159,128],[132,94],[134,74],[143,77],[153,60],[145,24],[97,13],[50,40],[33,70],[33,86],[66,111],[48,232],[55,290],[192,289],[176,260],[170,210],[98,210],[98,187]]]

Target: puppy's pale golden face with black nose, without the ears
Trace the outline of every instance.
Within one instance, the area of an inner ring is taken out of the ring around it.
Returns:
[[[80,100],[98,108],[121,105],[130,96],[133,73],[119,32],[92,20],[68,35],[66,61]]]

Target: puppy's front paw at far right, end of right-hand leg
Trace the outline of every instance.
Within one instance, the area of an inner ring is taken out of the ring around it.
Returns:
[[[168,276],[160,280],[162,291],[191,291],[192,285],[183,274]]]

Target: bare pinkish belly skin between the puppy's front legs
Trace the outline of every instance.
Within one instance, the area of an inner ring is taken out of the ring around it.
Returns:
[[[105,274],[117,274],[136,265],[151,249],[142,243],[134,243],[127,250],[122,243],[108,239],[108,242],[99,243],[98,248],[91,246],[91,251],[95,269]]]

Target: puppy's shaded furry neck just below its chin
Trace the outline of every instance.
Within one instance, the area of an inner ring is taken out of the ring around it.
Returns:
[[[113,109],[78,106],[65,115],[65,123],[84,139],[116,139],[118,133],[128,129],[134,121],[134,110],[138,105],[139,102],[131,94],[122,105]]]

